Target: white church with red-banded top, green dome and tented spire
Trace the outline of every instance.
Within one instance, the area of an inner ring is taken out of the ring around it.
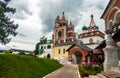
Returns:
[[[82,33],[79,35],[79,40],[84,45],[94,49],[100,41],[104,39],[104,34],[99,31],[99,27],[96,26],[93,14],[91,15],[89,27],[83,26]]]

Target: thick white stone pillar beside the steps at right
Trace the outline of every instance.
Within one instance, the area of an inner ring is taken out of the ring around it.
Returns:
[[[103,49],[105,55],[104,71],[111,69],[111,67],[118,66],[118,49],[115,47],[112,33],[106,33],[106,47]]]

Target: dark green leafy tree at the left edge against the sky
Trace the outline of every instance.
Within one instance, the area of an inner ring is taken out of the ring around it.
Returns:
[[[11,41],[12,36],[16,36],[16,29],[18,24],[14,24],[14,21],[7,15],[8,13],[14,14],[15,8],[8,6],[10,0],[0,0],[0,43],[7,44]]]

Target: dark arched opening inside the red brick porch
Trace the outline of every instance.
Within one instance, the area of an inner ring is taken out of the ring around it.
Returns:
[[[73,64],[80,64],[82,62],[82,54],[80,52],[75,52],[72,55],[72,59]]]

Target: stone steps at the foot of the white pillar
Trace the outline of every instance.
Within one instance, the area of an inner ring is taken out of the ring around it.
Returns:
[[[112,67],[108,71],[102,71],[95,76],[90,75],[85,78],[120,78],[120,69],[118,67]]]

